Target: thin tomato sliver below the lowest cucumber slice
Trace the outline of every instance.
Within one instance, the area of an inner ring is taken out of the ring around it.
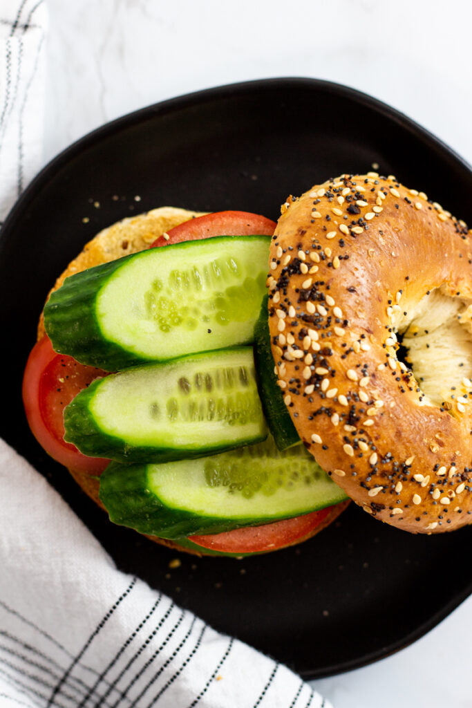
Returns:
[[[190,536],[189,539],[197,546],[223,553],[275,551],[311,535],[332,509],[332,506],[328,506],[311,514],[275,521],[264,526],[246,526],[213,535]]]

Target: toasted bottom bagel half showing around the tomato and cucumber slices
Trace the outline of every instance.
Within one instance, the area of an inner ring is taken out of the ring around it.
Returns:
[[[156,239],[158,239],[159,236],[162,236],[162,234],[165,234],[174,227],[178,226],[178,224],[182,224],[189,219],[202,216],[203,213],[204,212],[192,212],[176,207],[160,207],[158,209],[145,212],[144,214],[137,215],[136,217],[122,219],[120,222],[103,229],[103,231],[100,231],[84,246],[81,253],[79,253],[79,255],[76,256],[71,263],[69,263],[64,272],[59,275],[59,278],[57,278],[54,287],[52,287],[52,290],[48,294],[48,297],[51,292],[57,290],[57,288],[62,285],[64,279],[69,275],[80,273],[82,270],[86,270],[86,268],[93,268],[93,266],[100,265],[101,263],[114,261],[116,258],[129,255],[129,253],[136,253],[137,251],[142,251],[149,248],[149,246]],[[41,314],[38,324],[38,341],[44,335],[45,329],[43,316]],[[100,489],[99,479],[96,476],[88,474],[87,472],[79,472],[75,469],[69,469],[69,472],[77,484],[79,484],[81,489],[96,504],[98,504],[100,508],[106,511],[98,496]],[[349,502],[346,501],[330,508],[328,515],[323,519],[322,523],[313,529],[309,534],[297,539],[294,542],[287,543],[283,547],[285,548],[299,544],[316,535],[319,531],[329,526],[330,523],[338,518],[348,503]],[[212,552],[207,552],[203,547],[200,552],[192,548],[182,547],[178,543],[169,539],[163,539],[156,536],[148,536],[147,538],[168,548],[190,553],[192,555],[214,555]],[[280,548],[281,547],[278,547],[273,550],[279,550]]]

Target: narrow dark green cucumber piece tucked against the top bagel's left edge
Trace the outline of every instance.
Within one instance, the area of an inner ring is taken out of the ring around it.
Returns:
[[[267,425],[279,450],[286,450],[287,447],[297,445],[300,436],[284,404],[284,397],[274,372],[274,358],[270,349],[268,299],[268,295],[265,295],[254,328],[255,370]]]

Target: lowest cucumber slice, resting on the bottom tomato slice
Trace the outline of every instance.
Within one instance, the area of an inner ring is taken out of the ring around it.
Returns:
[[[346,498],[304,445],[280,452],[272,438],[200,459],[112,463],[100,478],[110,520],[169,539],[292,518]]]

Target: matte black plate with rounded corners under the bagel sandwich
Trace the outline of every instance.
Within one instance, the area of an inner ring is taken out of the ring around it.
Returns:
[[[350,508],[299,548],[244,561],[182,556],[169,570],[175,552],[110,525],[42,452],[25,423],[21,375],[47,291],[98,229],[159,205],[275,219],[289,193],[373,163],[472,222],[470,169],[425,130],[342,86],[276,79],[176,98],[96,130],[40,173],[1,232],[1,435],[50,479],[120,569],[306,678],[386,656],[451,612],[472,589],[464,564],[472,529],[415,537]]]

